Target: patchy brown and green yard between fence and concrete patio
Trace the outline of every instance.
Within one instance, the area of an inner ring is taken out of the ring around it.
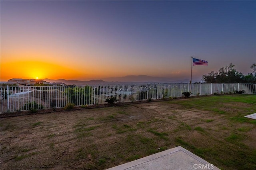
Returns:
[[[106,169],[182,146],[256,169],[256,95],[203,96],[1,118],[1,169]]]

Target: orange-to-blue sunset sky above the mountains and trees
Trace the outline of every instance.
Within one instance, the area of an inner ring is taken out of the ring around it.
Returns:
[[[193,80],[256,63],[256,1],[1,1],[0,80]]]

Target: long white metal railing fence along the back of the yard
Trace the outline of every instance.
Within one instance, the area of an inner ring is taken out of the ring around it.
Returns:
[[[207,94],[256,94],[256,84],[192,84],[192,96]],[[119,102],[182,97],[190,91],[190,84],[134,84],[95,86],[7,86],[0,87],[0,113],[103,104],[106,98],[116,96]]]

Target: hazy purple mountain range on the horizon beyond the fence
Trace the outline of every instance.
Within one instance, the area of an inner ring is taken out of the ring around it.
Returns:
[[[184,80],[171,80],[171,78],[164,78],[164,77],[153,77],[147,75],[129,75],[124,77],[111,77],[111,78],[102,78],[102,80],[90,80],[90,81],[81,81],[81,80],[65,80],[65,79],[58,79],[52,80],[45,78],[43,79],[46,82],[62,82],[67,85],[98,85],[98,84],[142,84],[142,83],[188,83],[188,79]]]

